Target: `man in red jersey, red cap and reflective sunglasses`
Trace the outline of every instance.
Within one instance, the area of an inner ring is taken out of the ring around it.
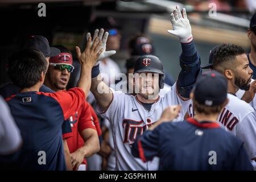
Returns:
[[[65,90],[73,72],[73,58],[71,52],[63,46],[55,46],[61,53],[51,57],[49,69],[44,82],[49,88],[55,91]],[[100,150],[100,142],[95,127],[97,123],[99,134],[101,134],[97,115],[92,116],[92,109],[88,102],[85,102],[76,113],[69,118],[73,137],[67,139],[73,170],[85,170],[86,159]]]

